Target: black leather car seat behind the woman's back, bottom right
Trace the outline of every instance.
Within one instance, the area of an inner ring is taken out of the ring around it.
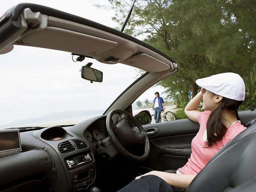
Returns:
[[[209,161],[186,192],[256,191],[256,125],[241,132]]]

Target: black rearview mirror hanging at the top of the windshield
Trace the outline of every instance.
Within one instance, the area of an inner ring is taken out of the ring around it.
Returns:
[[[91,67],[83,66],[81,69],[81,77],[83,79],[91,81],[91,83],[93,81],[102,82],[103,73]]]

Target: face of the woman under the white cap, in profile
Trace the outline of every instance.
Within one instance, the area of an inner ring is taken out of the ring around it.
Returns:
[[[203,110],[204,111],[213,111],[215,108],[217,108],[220,103],[216,103],[215,99],[218,96],[215,95],[214,93],[206,90],[204,95],[203,95]]]

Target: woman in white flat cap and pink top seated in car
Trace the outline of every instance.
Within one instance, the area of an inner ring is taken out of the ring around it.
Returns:
[[[241,125],[237,113],[245,96],[243,79],[236,73],[220,73],[195,82],[201,91],[186,105],[185,113],[189,119],[200,124],[200,129],[192,140],[192,154],[186,165],[178,169],[177,174],[152,171],[136,177],[120,192],[187,188],[209,160],[244,131],[245,127]],[[204,112],[198,111],[201,100]]]

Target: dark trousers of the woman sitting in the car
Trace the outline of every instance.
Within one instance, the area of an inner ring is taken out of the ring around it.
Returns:
[[[155,175],[146,175],[133,180],[118,192],[177,192],[177,188]]]

